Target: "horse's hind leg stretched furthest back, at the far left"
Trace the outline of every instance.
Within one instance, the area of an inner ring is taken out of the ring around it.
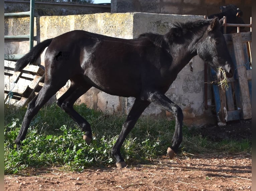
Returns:
[[[27,130],[32,118],[38,113],[39,109],[60,89],[61,87],[53,87],[49,84],[44,84],[40,92],[30,101],[27,107],[26,114],[15,143],[17,150],[20,148],[20,142],[25,139]]]

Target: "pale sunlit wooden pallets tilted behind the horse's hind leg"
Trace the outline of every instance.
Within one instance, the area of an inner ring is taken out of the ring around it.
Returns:
[[[42,88],[44,70],[39,66],[26,66],[22,72],[14,72],[15,62],[4,61],[5,103],[24,106]]]

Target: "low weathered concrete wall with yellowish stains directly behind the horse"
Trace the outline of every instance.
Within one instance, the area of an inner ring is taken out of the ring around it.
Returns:
[[[42,42],[45,39],[53,38],[72,30],[85,30],[126,39],[136,38],[139,34],[145,32],[164,34],[174,22],[186,22],[203,18],[204,16],[195,15],[135,12],[41,16],[35,18],[34,36],[36,41],[34,41],[34,45],[37,42]],[[29,27],[25,22],[27,21],[24,18],[6,18],[5,35],[23,34],[23,31],[27,31],[27,27]],[[28,51],[29,45],[27,41],[13,42],[11,39],[5,40],[5,54],[25,54]],[[43,58],[44,53],[41,55],[42,65],[44,65]],[[191,67],[193,68],[193,72],[191,71]],[[208,89],[209,96],[207,102],[210,105],[212,97],[210,97],[210,87]],[[56,94],[56,98],[60,97],[66,90],[67,87],[63,87]],[[204,62],[198,56],[194,57],[189,65],[181,70],[166,95],[182,108],[184,123],[202,125],[216,122],[216,117],[212,117],[211,109],[205,110],[204,107]],[[91,108],[110,113],[128,113],[133,101],[134,98],[132,97],[112,96],[96,88],[92,88],[81,96],[77,103],[86,103]],[[170,113],[161,110],[154,104],[150,104],[143,114],[152,116],[167,115],[171,117]]]

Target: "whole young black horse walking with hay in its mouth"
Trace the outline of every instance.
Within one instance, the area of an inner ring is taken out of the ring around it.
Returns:
[[[175,116],[173,144],[167,149],[170,158],[182,141],[181,108],[164,94],[181,69],[196,55],[227,77],[233,76],[233,63],[225,38],[220,31],[222,20],[198,20],[176,23],[165,35],[145,33],[136,39],[119,39],[86,31],[75,30],[37,44],[17,61],[15,71],[32,64],[45,52],[45,81],[41,91],[28,104],[19,134],[17,149],[25,138],[30,121],[39,109],[68,80],[71,86],[57,104],[70,115],[85,132],[90,144],[90,124],[73,108],[75,101],[91,87],[111,95],[135,97],[134,104],[123,124],[111,154],[117,167],[125,167],[120,148],[144,109],[154,102]],[[69,58],[54,60],[59,52]]]

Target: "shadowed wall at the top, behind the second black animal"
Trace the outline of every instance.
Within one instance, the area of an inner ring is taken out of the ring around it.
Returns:
[[[111,13],[147,12],[179,15],[212,15],[220,6],[234,4],[244,13],[245,23],[252,16],[251,0],[111,0]]]

